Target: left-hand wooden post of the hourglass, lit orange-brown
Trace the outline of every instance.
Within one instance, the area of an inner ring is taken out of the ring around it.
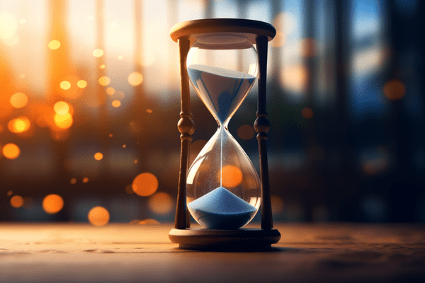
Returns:
[[[181,133],[181,151],[179,189],[177,192],[176,221],[174,222],[174,227],[176,229],[186,229],[188,227],[186,207],[186,178],[188,171],[189,148],[191,145],[192,134],[195,130],[195,124],[191,119],[191,97],[189,93],[188,72],[186,69],[186,58],[190,47],[190,42],[187,38],[179,38],[181,118],[177,127],[179,128],[179,132]]]

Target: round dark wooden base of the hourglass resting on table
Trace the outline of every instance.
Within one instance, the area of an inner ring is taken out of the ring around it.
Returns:
[[[278,243],[280,233],[276,229],[171,229],[171,242],[188,250],[271,250],[271,244]]]

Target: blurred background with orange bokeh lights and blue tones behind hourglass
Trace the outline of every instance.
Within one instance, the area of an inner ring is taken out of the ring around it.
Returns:
[[[277,30],[275,221],[425,221],[424,6],[0,0],[0,221],[174,221],[180,74],[169,30],[198,18]],[[217,125],[191,92],[193,161]],[[256,94],[229,131],[258,170]]]

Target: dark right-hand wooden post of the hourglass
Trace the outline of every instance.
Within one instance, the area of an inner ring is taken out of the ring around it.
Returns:
[[[256,48],[259,57],[259,101],[256,112],[257,119],[254,122],[257,139],[259,141],[260,175],[261,175],[261,229],[271,230],[273,218],[271,214],[270,184],[268,182],[267,161],[267,132],[270,122],[267,120],[266,112],[266,81],[267,81],[267,46],[266,36],[256,37]]]

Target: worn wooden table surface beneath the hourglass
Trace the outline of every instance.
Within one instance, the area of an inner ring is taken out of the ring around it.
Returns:
[[[424,224],[277,224],[251,253],[181,250],[171,228],[0,223],[0,282],[425,282]]]

